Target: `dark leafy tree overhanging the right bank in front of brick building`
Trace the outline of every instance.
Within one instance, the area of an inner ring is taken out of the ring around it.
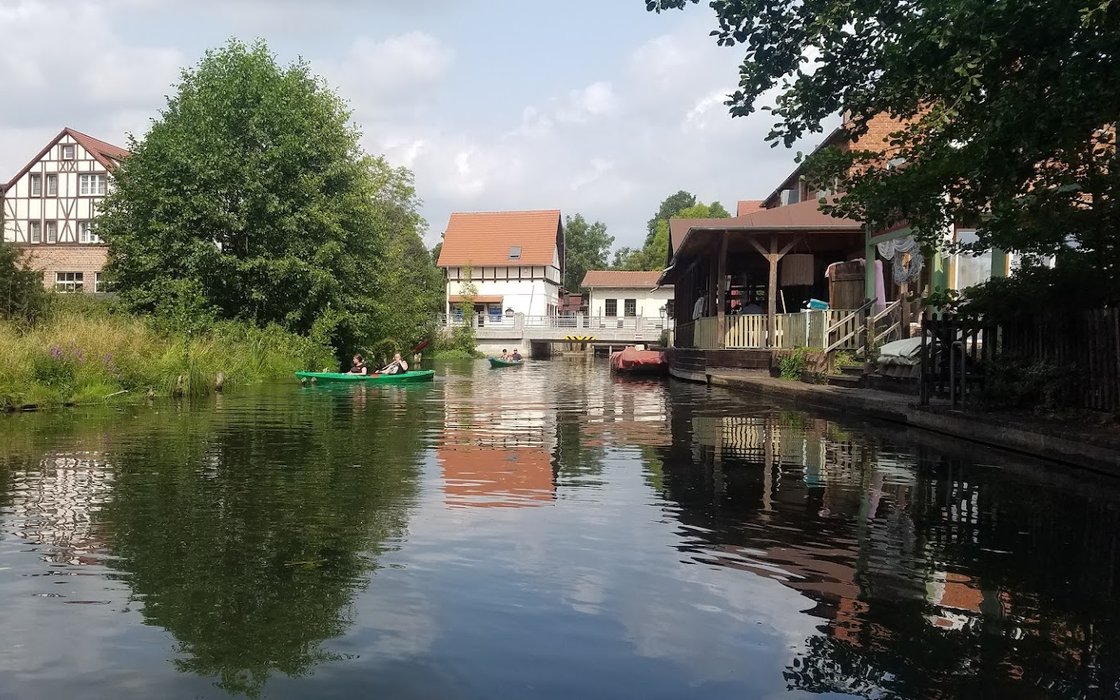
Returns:
[[[865,142],[810,162],[815,178],[840,180],[837,211],[879,226],[909,222],[930,240],[949,223],[976,223],[979,246],[1039,254],[1072,240],[1120,279],[1120,2],[710,4],[717,41],[746,54],[731,114],[767,109],[760,100],[777,91],[771,141],[788,146],[839,112],[852,138],[876,115],[898,120],[889,159]]]

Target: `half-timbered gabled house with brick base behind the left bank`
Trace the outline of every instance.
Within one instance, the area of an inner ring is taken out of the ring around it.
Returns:
[[[110,174],[128,156],[119,146],[66,128],[0,188],[3,240],[27,250],[44,286],[105,291],[97,206],[111,187]]]

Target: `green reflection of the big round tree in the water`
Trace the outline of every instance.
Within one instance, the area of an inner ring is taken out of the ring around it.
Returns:
[[[332,657],[321,643],[404,530],[422,439],[422,394],[354,401],[187,414],[122,450],[104,513],[114,567],[178,640],[180,670],[256,696]]]

